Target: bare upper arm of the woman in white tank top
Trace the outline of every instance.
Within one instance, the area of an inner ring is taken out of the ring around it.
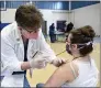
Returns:
[[[69,64],[65,64],[57,68],[50,78],[46,81],[45,87],[60,87],[72,78]]]

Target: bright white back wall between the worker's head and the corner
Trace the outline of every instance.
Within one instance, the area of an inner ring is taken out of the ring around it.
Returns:
[[[57,26],[56,25],[57,20],[67,20],[68,21],[67,11],[61,11],[61,10],[41,10],[41,11],[44,15],[44,20],[47,21],[47,33],[48,33],[48,28],[52,23],[55,23],[55,26]]]

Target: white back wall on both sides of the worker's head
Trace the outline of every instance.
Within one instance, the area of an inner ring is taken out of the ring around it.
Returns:
[[[7,9],[7,11],[1,11],[1,22],[2,23],[11,23],[14,21],[14,14],[16,9]],[[43,13],[43,18],[47,21],[47,34],[48,28],[54,22],[56,25],[57,20],[67,20],[68,21],[68,13],[67,11],[63,10],[43,10],[40,9]]]

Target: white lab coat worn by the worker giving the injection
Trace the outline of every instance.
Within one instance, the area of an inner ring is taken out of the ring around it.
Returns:
[[[30,61],[33,53],[44,51],[53,61],[56,56],[45,42],[42,31],[38,32],[37,40],[30,40],[27,47],[27,59]],[[23,87],[24,75],[12,75],[13,72],[23,72],[21,64],[24,61],[24,46],[20,30],[16,22],[9,24],[1,31],[1,75],[4,76],[1,87]]]

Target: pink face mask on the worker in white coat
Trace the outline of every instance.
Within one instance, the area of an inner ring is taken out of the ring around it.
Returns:
[[[22,30],[21,31],[22,32],[22,35],[24,36],[24,37],[26,37],[26,38],[34,38],[34,40],[37,40],[37,37],[38,37],[38,32],[27,32],[27,31],[25,31],[25,30]]]

